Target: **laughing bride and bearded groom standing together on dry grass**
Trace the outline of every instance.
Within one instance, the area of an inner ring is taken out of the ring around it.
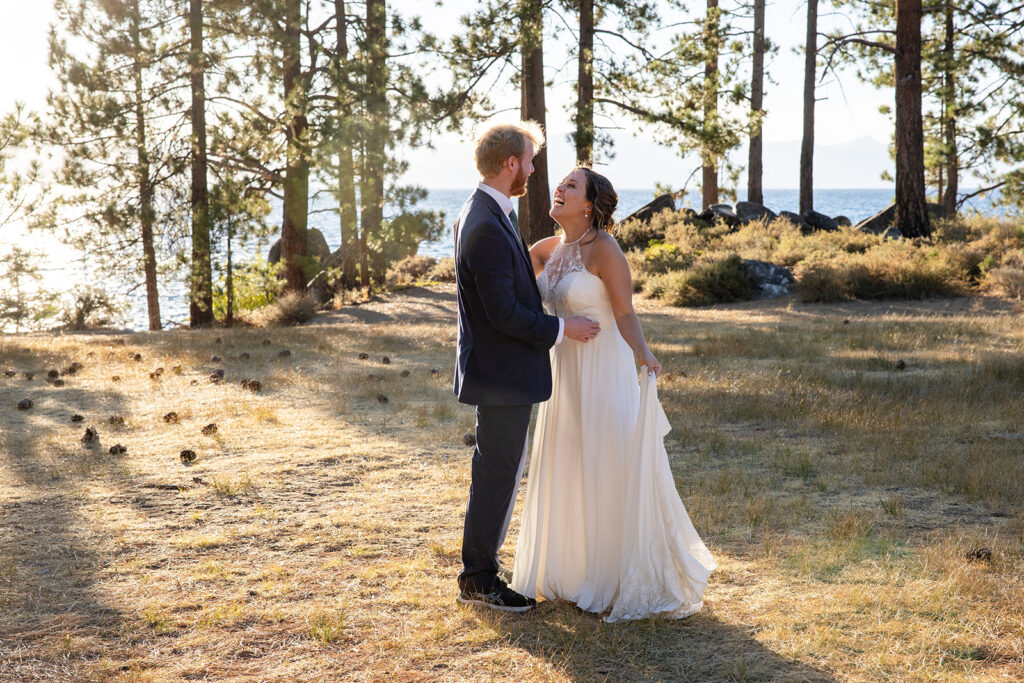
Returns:
[[[455,392],[476,407],[476,449],[458,601],[527,611],[562,599],[605,620],[700,609],[716,562],[675,487],[657,400],[662,366],[633,310],[630,268],[609,234],[618,198],[573,169],[554,193],[560,236],[527,247],[512,198],[544,134],[503,124],[476,142],[483,178],[455,229]],[[645,372],[637,381],[636,365]],[[534,433],[511,573],[499,564]]]

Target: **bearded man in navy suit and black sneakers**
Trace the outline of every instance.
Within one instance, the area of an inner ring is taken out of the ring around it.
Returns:
[[[532,122],[500,124],[476,141],[483,178],[455,226],[459,345],[455,393],[476,405],[476,449],[462,538],[459,598],[503,611],[537,601],[499,578],[505,542],[526,464],[534,403],[551,395],[549,349],[563,337],[587,342],[600,331],[583,316],[548,315],[534,276],[512,198],[526,194],[544,133]]]

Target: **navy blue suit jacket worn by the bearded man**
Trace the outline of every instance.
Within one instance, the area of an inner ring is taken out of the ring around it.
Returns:
[[[544,312],[529,252],[498,202],[477,189],[455,226],[459,344],[455,393],[473,405],[551,396],[558,318]]]

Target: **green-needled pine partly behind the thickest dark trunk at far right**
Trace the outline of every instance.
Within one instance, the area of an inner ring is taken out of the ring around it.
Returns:
[[[826,69],[853,67],[858,78],[894,87],[895,2],[840,4],[855,23],[829,34]],[[1016,95],[1024,88],[1020,9],[1016,0],[923,3],[925,174],[947,212],[1011,182],[1013,172],[1000,166],[1024,160],[1024,112]],[[964,194],[961,178],[968,174],[987,185]]]

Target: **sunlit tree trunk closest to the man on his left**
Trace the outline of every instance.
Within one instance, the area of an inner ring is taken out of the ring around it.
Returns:
[[[359,200],[362,203],[361,244],[380,236],[384,222],[384,164],[387,155],[387,6],[385,0],[367,0],[367,87],[368,131],[362,155]],[[369,261],[365,257],[365,261]],[[384,282],[383,245],[373,254],[373,281]],[[366,273],[362,284],[369,286]]]

